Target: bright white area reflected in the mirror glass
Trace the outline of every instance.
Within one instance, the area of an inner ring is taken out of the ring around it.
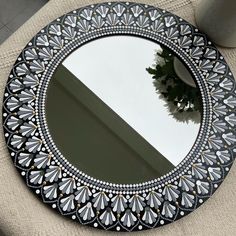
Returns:
[[[199,125],[177,122],[158,98],[145,68],[159,45],[112,36],[73,52],[63,65],[174,165],[191,149]]]

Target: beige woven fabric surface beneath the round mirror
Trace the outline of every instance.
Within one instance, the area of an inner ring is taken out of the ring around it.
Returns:
[[[56,17],[99,0],[50,0],[16,33],[0,46],[0,97],[17,55],[27,42]],[[165,8],[194,24],[197,0],[143,0]],[[236,49],[220,51],[236,76]],[[2,103],[2,99],[1,99]],[[127,235],[95,230],[60,216],[41,203],[19,178],[8,154],[0,126],[0,229],[7,236],[24,235]],[[236,165],[219,190],[195,212],[161,228],[134,232],[133,235],[236,235]],[[0,233],[1,234],[1,233]]]

